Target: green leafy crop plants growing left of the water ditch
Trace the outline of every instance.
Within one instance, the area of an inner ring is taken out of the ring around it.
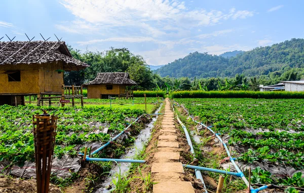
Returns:
[[[17,108],[0,106],[0,162],[33,161],[32,115],[41,114],[43,109],[59,117],[54,149],[54,155],[59,157],[64,154],[76,155],[75,146],[78,144],[107,141],[110,135],[101,132],[103,129],[107,128],[108,133],[118,133],[131,122],[131,119],[144,113],[138,109],[103,107],[78,109],[32,105]]]

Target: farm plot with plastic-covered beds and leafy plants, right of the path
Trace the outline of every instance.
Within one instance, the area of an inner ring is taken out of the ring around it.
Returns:
[[[256,168],[254,183],[304,186],[302,99],[175,99],[233,147],[240,168]],[[204,132],[201,130],[201,133]],[[204,163],[202,163],[204,164]],[[222,167],[229,165],[222,164]],[[292,177],[293,176],[293,177]]]

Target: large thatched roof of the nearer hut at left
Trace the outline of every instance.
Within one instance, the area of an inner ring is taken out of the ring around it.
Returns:
[[[61,61],[66,71],[88,67],[74,59],[64,41],[8,41],[0,42],[0,65],[39,64]]]

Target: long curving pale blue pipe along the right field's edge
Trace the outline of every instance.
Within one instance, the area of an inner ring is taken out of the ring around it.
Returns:
[[[245,184],[247,185],[247,187],[249,187],[249,181],[246,179],[245,175],[243,174],[243,172],[240,170],[239,166],[238,166],[238,165],[236,164],[236,162],[234,161],[234,158],[232,158],[232,156],[230,155],[230,152],[229,152],[229,150],[228,150],[228,148],[227,148],[227,146],[226,146],[226,143],[223,142],[223,140],[221,139],[221,137],[220,137],[218,134],[216,134],[210,127],[207,127],[207,125],[204,125],[203,123],[200,123],[200,122],[198,122],[198,121],[195,121],[195,120],[194,120],[194,117],[193,117],[193,116],[190,116],[189,112],[188,112],[183,106],[182,106],[182,108],[187,112],[187,114],[189,115],[189,117],[191,117],[192,120],[193,120],[194,122],[203,125],[203,126],[206,127],[209,131],[211,131],[213,134],[215,134],[215,136],[218,138],[218,140],[223,144],[223,146],[224,146],[224,148],[225,148],[225,150],[226,150],[226,152],[227,152],[227,155],[228,155],[228,157],[229,157],[231,163],[234,165],[234,167],[236,168],[237,172],[241,174],[240,177],[241,177],[242,180],[245,182]],[[251,185],[250,185],[250,190],[251,190],[251,192],[257,192],[257,191],[259,191],[259,190],[255,191]]]

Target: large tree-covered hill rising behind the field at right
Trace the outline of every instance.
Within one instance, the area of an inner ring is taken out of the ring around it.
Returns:
[[[290,67],[304,68],[304,39],[291,39],[272,46],[256,47],[232,58],[191,53],[155,70],[171,77],[232,77],[282,74]]]

